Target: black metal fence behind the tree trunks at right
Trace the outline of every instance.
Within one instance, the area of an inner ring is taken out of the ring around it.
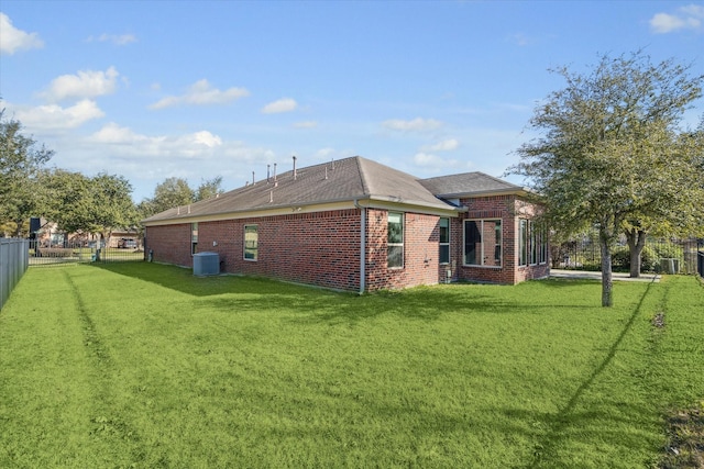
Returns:
[[[553,269],[601,270],[601,248],[595,232],[551,246]],[[623,236],[612,253],[614,271],[630,269],[630,254]],[[704,239],[648,237],[641,253],[641,272],[700,273],[704,276]]]

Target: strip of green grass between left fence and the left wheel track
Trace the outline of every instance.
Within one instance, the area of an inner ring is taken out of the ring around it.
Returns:
[[[94,370],[62,270],[42,284],[28,273],[0,312],[1,467],[74,467],[100,450],[88,418]]]

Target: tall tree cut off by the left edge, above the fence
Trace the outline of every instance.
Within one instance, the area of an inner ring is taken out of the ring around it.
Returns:
[[[40,203],[37,175],[54,152],[22,133],[20,121],[6,120],[0,111],[0,222],[20,236],[25,221]]]

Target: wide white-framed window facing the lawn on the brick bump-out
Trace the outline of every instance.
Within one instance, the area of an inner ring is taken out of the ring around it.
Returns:
[[[502,221],[465,220],[464,252],[465,266],[502,266]]]

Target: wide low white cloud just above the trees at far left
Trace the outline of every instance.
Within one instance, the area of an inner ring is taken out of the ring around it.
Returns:
[[[62,108],[57,104],[14,109],[16,119],[30,130],[67,130],[105,115],[95,101],[84,99]]]

